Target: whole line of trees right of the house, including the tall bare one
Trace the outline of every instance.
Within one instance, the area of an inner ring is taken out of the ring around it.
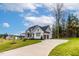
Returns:
[[[57,3],[54,8],[56,23],[53,25],[53,38],[79,37],[79,19],[73,13],[64,17],[63,4]]]

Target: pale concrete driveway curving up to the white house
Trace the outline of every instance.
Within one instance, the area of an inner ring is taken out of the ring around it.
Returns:
[[[41,43],[0,53],[0,56],[47,56],[52,48],[64,42],[67,40],[44,40]]]

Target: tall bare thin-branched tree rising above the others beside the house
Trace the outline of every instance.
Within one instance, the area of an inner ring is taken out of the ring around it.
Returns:
[[[54,16],[56,18],[57,38],[60,38],[59,27],[60,27],[60,20],[63,18],[63,6],[64,5],[62,3],[57,3],[56,6],[54,7]]]

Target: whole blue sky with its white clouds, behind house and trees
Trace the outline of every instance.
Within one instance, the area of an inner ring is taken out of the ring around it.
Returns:
[[[33,25],[51,25],[55,17],[51,10],[54,4],[9,3],[0,4],[0,34],[20,34]],[[78,14],[79,4],[65,4],[65,14]],[[67,16],[67,15],[66,15]]]

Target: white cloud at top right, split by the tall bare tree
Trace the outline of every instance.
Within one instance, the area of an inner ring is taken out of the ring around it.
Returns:
[[[69,9],[69,10],[79,10],[79,3],[63,3],[63,9]],[[47,3],[44,4],[50,11],[53,10],[53,7],[56,6],[56,3]]]

